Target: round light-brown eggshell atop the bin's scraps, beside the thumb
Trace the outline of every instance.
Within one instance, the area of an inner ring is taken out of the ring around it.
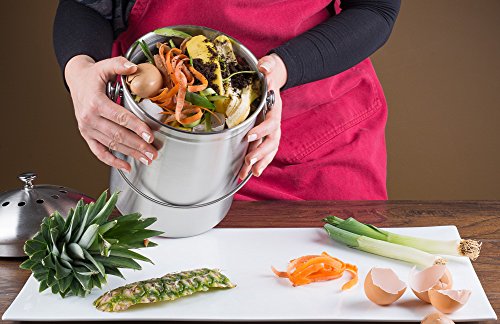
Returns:
[[[126,78],[130,91],[141,98],[150,98],[158,94],[163,86],[160,70],[150,63],[137,65],[137,71]]]

